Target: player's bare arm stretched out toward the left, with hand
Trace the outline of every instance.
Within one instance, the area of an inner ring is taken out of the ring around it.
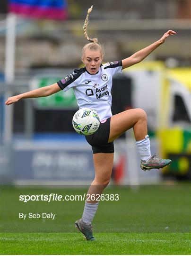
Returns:
[[[19,101],[20,99],[46,97],[58,91],[61,91],[61,88],[58,86],[57,83],[54,83],[52,85],[44,86],[42,88],[38,88],[33,91],[28,91],[13,97],[9,97],[7,101],[5,101],[5,104],[10,105],[12,103]]]

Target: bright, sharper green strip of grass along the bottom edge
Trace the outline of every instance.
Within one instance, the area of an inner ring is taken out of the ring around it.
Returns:
[[[5,255],[189,255],[188,233],[96,233],[87,241],[78,233],[3,233]]]

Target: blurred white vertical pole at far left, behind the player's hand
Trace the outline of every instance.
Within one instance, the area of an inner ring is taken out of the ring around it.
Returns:
[[[11,86],[15,78],[15,47],[16,47],[16,15],[8,13],[5,41],[5,82]],[[6,90],[5,99],[12,96],[11,90]],[[9,144],[13,130],[13,105],[5,107],[4,143]]]

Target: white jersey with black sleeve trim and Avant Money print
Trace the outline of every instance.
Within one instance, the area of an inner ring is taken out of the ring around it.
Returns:
[[[122,73],[122,61],[101,64],[96,74],[86,67],[75,69],[57,83],[63,91],[73,88],[78,107],[95,110],[102,121],[112,116],[112,77],[116,73]]]

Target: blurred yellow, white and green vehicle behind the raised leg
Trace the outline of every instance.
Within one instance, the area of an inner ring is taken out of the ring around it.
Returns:
[[[191,68],[166,68],[155,61],[124,73],[133,81],[133,107],[146,110],[161,157],[173,160],[163,175],[191,179]]]

